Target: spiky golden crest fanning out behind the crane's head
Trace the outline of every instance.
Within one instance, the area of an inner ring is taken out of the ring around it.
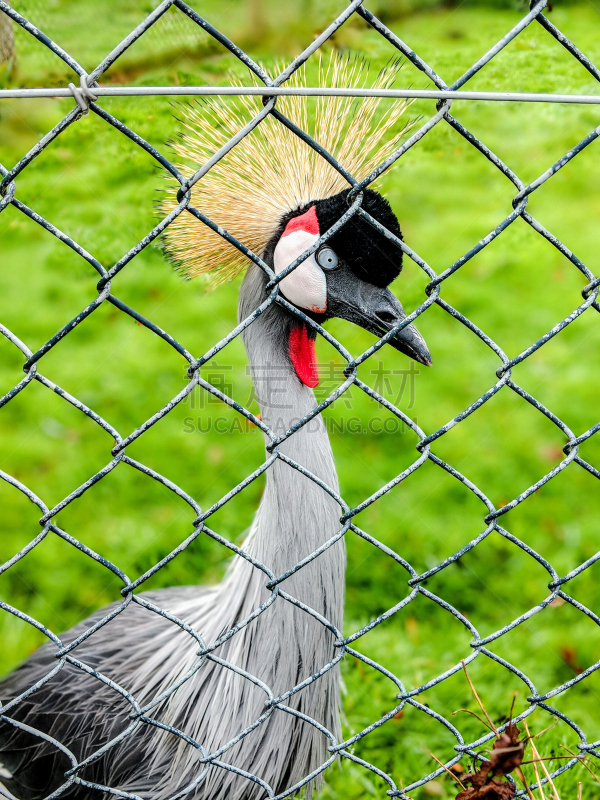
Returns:
[[[397,62],[392,63],[369,84],[364,60],[333,54],[319,60],[318,85],[386,89],[399,69]],[[286,86],[306,85],[303,65]],[[413,124],[397,129],[410,102],[384,100],[380,109],[381,104],[382,99],[375,97],[281,96],[277,100],[282,114],[357,179],[393,153]],[[184,130],[173,149],[183,160],[177,168],[188,178],[262,110],[262,98],[211,97],[182,109]],[[176,207],[178,188],[170,179],[160,204],[164,214]],[[262,256],[285,214],[346,188],[347,181],[325,159],[269,115],[193,186],[192,205]],[[235,278],[248,265],[242,253],[185,211],[164,236],[177,268],[189,278],[203,276],[209,287]]]

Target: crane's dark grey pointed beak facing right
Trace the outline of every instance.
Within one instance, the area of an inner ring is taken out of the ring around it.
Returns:
[[[383,336],[406,319],[402,303],[389,289],[373,286],[341,268],[327,273],[327,316],[359,325]],[[414,325],[407,325],[388,344],[419,364],[430,367],[431,354]]]

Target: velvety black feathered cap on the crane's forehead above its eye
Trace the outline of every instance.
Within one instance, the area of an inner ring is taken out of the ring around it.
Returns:
[[[329,230],[348,210],[349,191],[346,189],[316,202],[321,233]],[[390,233],[402,238],[396,215],[385,197],[373,189],[364,189],[362,208]],[[375,286],[388,286],[402,269],[402,250],[358,215],[351,217],[327,243],[357,278]]]

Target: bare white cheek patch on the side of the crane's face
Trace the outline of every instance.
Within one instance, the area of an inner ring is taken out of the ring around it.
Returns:
[[[304,230],[284,234],[275,248],[273,263],[279,274],[319,238],[318,234]],[[300,308],[323,313],[327,309],[327,281],[314,254],[302,261],[281,281],[281,291],[287,299]]]

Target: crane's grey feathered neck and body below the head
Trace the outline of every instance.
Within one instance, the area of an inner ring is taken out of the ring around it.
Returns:
[[[251,267],[240,293],[240,318],[264,298],[264,278]],[[278,431],[315,406],[310,389],[297,379],[286,352],[290,318],[271,307],[244,334],[261,413]],[[265,380],[265,375],[270,376]],[[281,451],[337,491],[337,478],[320,417],[281,445]],[[282,461],[268,470],[266,489],[243,547],[280,575],[326,542],[340,528],[338,504],[309,478]],[[210,521],[209,521],[210,524]],[[345,551],[338,541],[288,578],[282,589],[342,627]],[[235,557],[216,587],[174,587],[145,595],[183,619],[209,644],[265,601],[264,573]],[[71,641],[97,612],[65,634]],[[281,597],[215,651],[267,684],[277,696],[329,663],[334,635]],[[131,692],[144,704],[198,663],[198,644],[158,614],[131,603],[73,655]],[[25,691],[55,665],[52,644],[0,683],[3,701]],[[292,695],[290,708],[314,718],[340,736],[339,672],[334,667]],[[212,661],[204,665],[151,715],[184,731],[209,753],[225,745],[265,711],[266,695],[251,681]],[[11,714],[50,733],[81,760],[132,724],[131,706],[117,692],[77,667],[66,665]],[[38,800],[64,781],[68,759],[52,745],[0,723],[0,762],[13,773],[5,785],[19,800]],[[328,758],[328,738],[310,723],[283,710],[227,750],[220,760],[252,773],[276,792],[308,775]],[[200,753],[173,734],[138,723],[135,731],[82,774],[86,780],[148,800],[166,800],[202,772]],[[316,782],[318,784],[318,780]],[[98,794],[100,797],[100,793]],[[89,798],[74,784],[63,796]],[[254,800],[264,788],[221,767],[210,767],[187,795],[193,800]],[[107,795],[108,797],[108,795]]]

